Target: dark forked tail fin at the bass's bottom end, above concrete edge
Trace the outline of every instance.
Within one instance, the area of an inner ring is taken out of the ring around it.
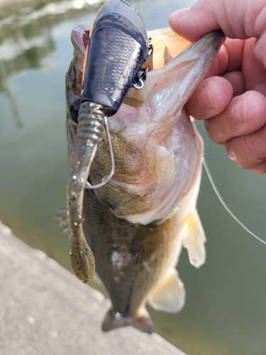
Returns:
[[[126,317],[121,313],[115,312],[115,310],[111,309],[106,313],[104,322],[101,324],[101,329],[103,332],[107,332],[111,329],[127,327],[128,325],[131,325],[132,327],[139,329],[142,332],[151,334],[154,331],[153,321],[151,320],[148,312],[145,309],[143,309],[143,311],[141,312],[141,315]]]

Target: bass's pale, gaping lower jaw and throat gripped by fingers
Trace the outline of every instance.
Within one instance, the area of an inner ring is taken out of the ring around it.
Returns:
[[[185,104],[204,79],[223,40],[223,33],[214,31],[173,59],[162,53],[166,64],[155,65],[147,73],[143,89],[131,89],[126,104],[110,117],[116,170],[109,185],[94,194],[117,217],[141,224],[163,219],[194,184],[203,146]],[[106,155],[104,144],[92,166],[93,184],[109,169],[108,162],[99,158]]]

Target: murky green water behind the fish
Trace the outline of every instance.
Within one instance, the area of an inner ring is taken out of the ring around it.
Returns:
[[[172,11],[192,3],[134,4],[151,30],[166,27]],[[0,220],[68,269],[70,241],[53,219],[65,207],[69,172],[65,73],[72,59],[71,30],[92,23],[97,6],[43,0],[19,8],[6,4],[0,11]],[[235,166],[199,130],[224,199],[266,240],[265,176]],[[189,355],[265,355],[266,246],[223,209],[205,173],[198,207],[208,240],[206,264],[196,269],[182,252],[178,271],[186,305],[177,315],[149,308],[155,329]]]

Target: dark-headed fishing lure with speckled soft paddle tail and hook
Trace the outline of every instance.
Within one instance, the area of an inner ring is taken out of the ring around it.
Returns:
[[[72,268],[84,283],[92,280],[95,271],[94,256],[82,230],[84,188],[102,187],[113,176],[114,159],[107,117],[116,114],[131,87],[143,87],[147,71],[143,64],[151,49],[143,18],[124,0],[107,1],[97,13],[90,33],[74,153],[74,157],[79,158],[72,162],[67,202]],[[101,183],[92,186],[87,179],[104,126],[111,171]]]

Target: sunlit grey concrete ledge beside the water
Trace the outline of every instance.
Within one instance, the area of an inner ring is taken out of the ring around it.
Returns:
[[[2,224],[0,295],[1,355],[185,355],[157,334],[101,332],[109,300]]]

